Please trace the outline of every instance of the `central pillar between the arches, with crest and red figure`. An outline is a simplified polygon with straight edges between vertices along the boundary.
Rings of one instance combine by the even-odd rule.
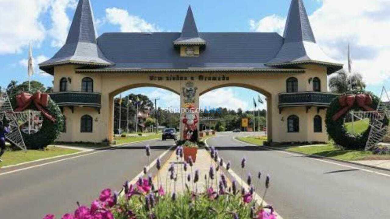
[[[199,92],[189,81],[180,92],[180,140],[197,141],[199,136]]]

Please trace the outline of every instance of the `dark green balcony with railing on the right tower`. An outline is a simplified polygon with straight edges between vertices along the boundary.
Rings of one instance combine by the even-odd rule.
[[[291,106],[328,107],[337,94],[328,92],[296,92],[279,94],[279,108]]]

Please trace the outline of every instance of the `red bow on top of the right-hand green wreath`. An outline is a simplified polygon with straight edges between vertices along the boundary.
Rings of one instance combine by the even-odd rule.
[[[333,115],[333,121],[338,120],[342,115],[347,113],[352,108],[353,104],[356,104],[363,108],[365,111],[374,111],[370,106],[372,104],[372,97],[369,94],[351,94],[339,97],[339,104],[342,107],[335,115]]]

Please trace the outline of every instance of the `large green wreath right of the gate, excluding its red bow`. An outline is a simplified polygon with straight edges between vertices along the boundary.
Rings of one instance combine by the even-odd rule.
[[[364,92],[364,91],[354,91],[354,92],[347,92],[344,95],[358,95],[358,94],[368,94],[371,95],[372,98],[372,104],[369,105],[372,109],[376,109],[378,106],[380,100],[379,98],[374,95],[371,92]],[[343,95],[342,95],[343,96]],[[326,111],[326,130],[329,134],[329,136],[335,141],[337,145],[342,146],[343,148],[347,149],[354,149],[354,150],[362,150],[365,148],[365,145],[367,143],[367,139],[371,130],[371,127],[369,126],[366,131],[357,134],[354,136],[353,134],[349,133],[347,129],[344,126],[344,118],[348,113],[344,113],[340,118],[337,120],[333,120],[333,115],[335,115],[342,107],[339,103],[339,98],[334,98],[333,101],[330,103],[330,106],[328,110]],[[350,110],[360,111],[362,108],[358,106],[358,104],[353,104],[352,108]],[[387,126],[389,124],[388,118],[385,117],[385,119],[382,121],[383,125]]]

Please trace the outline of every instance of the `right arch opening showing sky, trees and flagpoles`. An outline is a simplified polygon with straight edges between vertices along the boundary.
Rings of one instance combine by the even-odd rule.
[[[266,90],[252,85],[228,83],[200,92],[200,131],[251,132],[272,139],[271,98]],[[248,118],[248,127],[242,119]]]

